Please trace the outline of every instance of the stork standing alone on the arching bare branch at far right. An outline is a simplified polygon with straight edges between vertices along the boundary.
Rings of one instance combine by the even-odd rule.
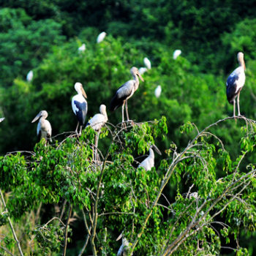
[[[239,96],[240,91],[244,87],[245,83],[245,63],[244,63],[244,53],[239,52],[237,55],[239,67],[237,67],[227,78],[227,100],[230,104],[233,104],[233,116],[236,116],[236,97],[237,97],[237,108],[238,116],[240,114],[239,107]]]

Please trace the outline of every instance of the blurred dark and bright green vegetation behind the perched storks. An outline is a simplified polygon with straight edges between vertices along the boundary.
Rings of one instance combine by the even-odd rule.
[[[88,118],[101,104],[108,110],[116,89],[131,78],[129,69],[143,67],[144,57],[152,69],[129,100],[129,116],[136,121],[167,117],[162,151],[172,141],[181,148],[187,144],[181,124],[191,121],[203,129],[233,114],[225,81],[238,66],[238,51],[246,62],[241,114],[256,119],[255,1],[10,0],[0,6],[1,155],[34,148],[31,120],[40,110],[48,111],[53,135],[75,130],[70,103],[75,82],[86,90]],[[97,44],[101,31],[107,36]],[[78,52],[83,43],[86,50]],[[182,53],[174,60],[176,49]],[[31,82],[26,81],[29,70]],[[158,85],[162,94],[156,98]],[[117,124],[121,109],[108,117]],[[241,127],[234,121],[225,126],[214,132],[235,157]],[[255,161],[252,156],[250,162]]]

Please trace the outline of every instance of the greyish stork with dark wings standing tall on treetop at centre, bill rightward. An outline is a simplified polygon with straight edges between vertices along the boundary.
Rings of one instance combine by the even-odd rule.
[[[138,71],[137,67],[132,67],[130,69],[130,72],[133,76],[133,80],[127,81],[127,83],[124,83],[121,87],[118,88],[116,91],[115,96],[110,102],[110,111],[114,111],[117,108],[119,108],[122,105],[122,122],[124,123],[124,104],[127,112],[127,121],[129,121],[129,115],[128,115],[128,106],[127,106],[127,100],[132,97],[132,95],[137,91],[140,80],[143,80],[142,76],[140,75],[140,72]]]

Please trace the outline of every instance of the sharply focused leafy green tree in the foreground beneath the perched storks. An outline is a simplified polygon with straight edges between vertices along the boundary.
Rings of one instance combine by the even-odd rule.
[[[185,124],[181,132],[191,136],[187,146],[170,145],[165,159],[150,171],[138,168],[135,159],[167,132],[164,117],[126,129],[108,124],[100,135],[97,162],[91,128],[80,138],[69,135],[47,146],[42,140],[26,158],[23,153],[1,157],[1,191],[12,191],[6,207],[1,205],[1,225],[19,222],[42,203],[61,211],[49,211],[45,224],[26,225],[29,242],[20,242],[21,251],[29,253],[26,244],[33,241],[35,254],[66,255],[70,221],[80,216],[85,228],[79,255],[116,255],[120,233],[129,241],[128,255],[219,255],[225,246],[246,255],[247,249],[238,242],[233,247],[230,239],[239,241],[242,230],[255,230],[256,170],[241,163],[254,154],[256,127],[255,121],[238,119],[245,123],[241,153],[231,160],[225,142],[211,133],[227,120],[235,121],[221,119],[201,132]],[[108,148],[102,148],[105,138]],[[165,192],[168,186],[174,197]],[[17,255],[14,238],[3,234],[0,252]]]

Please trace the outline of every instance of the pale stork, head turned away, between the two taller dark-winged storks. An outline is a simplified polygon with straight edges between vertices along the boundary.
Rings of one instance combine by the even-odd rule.
[[[94,129],[95,132],[97,132],[97,135],[95,137],[95,149],[94,149],[94,159],[98,159],[97,157],[97,147],[98,147],[98,140],[99,140],[99,133],[104,124],[108,121],[108,115],[105,105],[99,106],[99,113],[94,115],[89,122],[86,124],[86,127],[90,126],[92,129]]]

